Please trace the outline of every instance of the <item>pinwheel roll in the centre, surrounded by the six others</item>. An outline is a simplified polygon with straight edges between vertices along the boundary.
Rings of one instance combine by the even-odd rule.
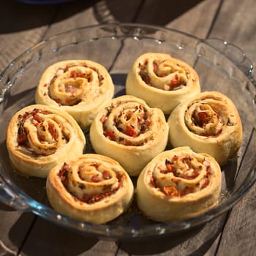
[[[168,127],[162,110],[124,95],[99,111],[91,124],[90,140],[98,154],[116,159],[129,175],[138,176],[154,156],[165,150]]]

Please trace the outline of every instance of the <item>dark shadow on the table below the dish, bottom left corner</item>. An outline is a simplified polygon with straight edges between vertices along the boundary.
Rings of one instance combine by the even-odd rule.
[[[53,225],[34,214],[22,214],[9,233],[22,255],[80,255],[99,241]],[[97,255],[97,253],[95,253]]]

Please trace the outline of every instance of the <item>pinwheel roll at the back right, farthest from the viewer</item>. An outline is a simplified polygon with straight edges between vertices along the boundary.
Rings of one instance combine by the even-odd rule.
[[[182,100],[200,93],[200,83],[195,69],[184,61],[165,53],[145,53],[129,70],[126,91],[170,114]]]

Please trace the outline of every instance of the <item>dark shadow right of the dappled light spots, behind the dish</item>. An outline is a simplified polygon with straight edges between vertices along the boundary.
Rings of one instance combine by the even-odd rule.
[[[178,16],[187,12],[202,0],[173,1],[98,1],[94,5],[94,15],[99,23],[150,23],[165,26]]]

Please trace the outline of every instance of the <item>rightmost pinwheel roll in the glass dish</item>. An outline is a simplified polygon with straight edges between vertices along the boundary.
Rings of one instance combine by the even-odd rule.
[[[205,91],[173,110],[167,121],[170,143],[206,152],[220,165],[241,146],[241,119],[233,102],[218,91]]]

